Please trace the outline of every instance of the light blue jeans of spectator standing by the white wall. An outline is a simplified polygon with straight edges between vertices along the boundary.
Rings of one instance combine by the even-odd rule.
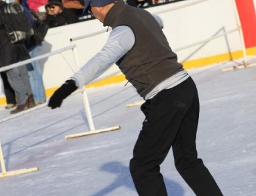
[[[38,44],[30,52],[30,56],[31,57],[39,56],[40,50],[41,50],[41,44]],[[44,101],[46,99],[45,86],[43,85],[43,74],[41,71],[39,61],[33,61],[32,67],[33,67],[33,70],[28,71],[28,75],[30,76],[30,85],[33,92],[33,99],[35,101]]]

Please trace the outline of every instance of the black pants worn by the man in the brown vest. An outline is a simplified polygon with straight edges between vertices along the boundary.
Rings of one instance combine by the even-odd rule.
[[[146,119],[135,144],[130,171],[140,196],[165,196],[160,165],[173,148],[175,167],[196,195],[223,195],[196,151],[199,99],[188,78],[141,106]]]

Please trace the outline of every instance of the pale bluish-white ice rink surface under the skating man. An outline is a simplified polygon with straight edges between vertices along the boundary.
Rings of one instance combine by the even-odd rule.
[[[198,156],[224,195],[256,195],[256,67],[222,72],[239,61],[188,70],[198,86],[200,122]],[[256,62],[256,57],[249,57]],[[144,116],[142,99],[126,82],[87,91],[95,129],[117,131],[76,139],[66,135],[89,131],[81,93],[61,108],[39,108],[0,123],[7,171],[38,167],[39,171],[0,178],[3,196],[135,196],[129,160]],[[0,108],[0,119],[11,116]],[[191,196],[169,155],[161,165],[167,191]],[[160,195],[161,196],[161,195]]]

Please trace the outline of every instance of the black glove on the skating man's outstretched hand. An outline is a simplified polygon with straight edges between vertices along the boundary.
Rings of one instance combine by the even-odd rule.
[[[77,90],[75,86],[75,80],[67,80],[58,90],[53,93],[53,96],[50,98],[48,106],[52,109],[60,107],[63,99],[68,97],[71,93]]]

